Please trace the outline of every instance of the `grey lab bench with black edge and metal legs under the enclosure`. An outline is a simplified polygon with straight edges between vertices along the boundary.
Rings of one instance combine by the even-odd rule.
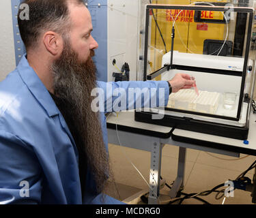
[[[124,200],[137,204],[140,197],[149,191],[149,204],[159,204],[160,188],[165,185],[160,180],[162,148],[179,146],[177,177],[169,196],[175,198],[183,187],[186,149],[196,149],[210,153],[240,157],[240,153],[256,156],[256,114],[251,112],[247,140],[237,140],[210,134],[201,134],[174,127],[141,123],[134,120],[134,110],[106,115],[109,143],[149,151],[151,153],[149,189]],[[121,140],[120,140],[121,139]],[[121,142],[120,142],[121,141]]]

